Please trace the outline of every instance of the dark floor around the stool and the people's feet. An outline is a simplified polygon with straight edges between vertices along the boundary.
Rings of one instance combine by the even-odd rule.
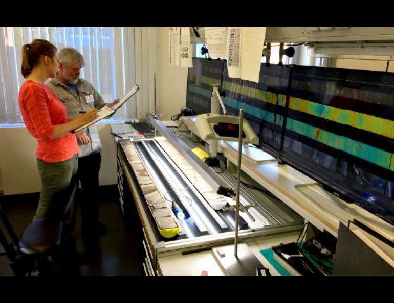
[[[101,188],[100,221],[106,224],[104,237],[82,237],[78,211],[76,230],[70,247],[84,255],[85,265],[76,267],[66,275],[143,275],[143,246],[141,231],[136,227],[126,231],[118,206],[116,186]],[[19,236],[31,222],[38,203],[38,195],[20,195],[3,198],[3,208]],[[6,256],[0,256],[0,275],[13,275]]]

